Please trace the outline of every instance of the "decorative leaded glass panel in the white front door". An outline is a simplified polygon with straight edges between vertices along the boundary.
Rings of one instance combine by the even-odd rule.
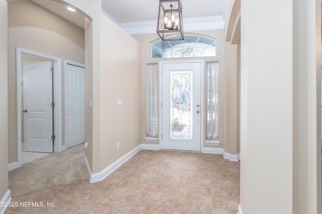
[[[171,71],[170,83],[170,139],[192,140],[192,71]]]

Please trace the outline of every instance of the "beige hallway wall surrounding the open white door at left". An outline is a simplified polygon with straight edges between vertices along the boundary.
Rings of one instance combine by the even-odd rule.
[[[85,31],[29,0],[8,3],[8,23],[9,163],[12,163],[17,161],[15,48],[20,47],[61,58],[61,95],[64,106],[64,60],[85,64]],[[62,117],[64,118],[64,108]],[[64,123],[62,134],[64,145]]]

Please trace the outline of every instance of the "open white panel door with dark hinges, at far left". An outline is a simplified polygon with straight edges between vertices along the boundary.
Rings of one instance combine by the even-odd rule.
[[[24,65],[25,151],[53,152],[51,62]]]

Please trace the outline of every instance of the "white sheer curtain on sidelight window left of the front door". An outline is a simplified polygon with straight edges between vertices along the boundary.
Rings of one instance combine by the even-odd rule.
[[[157,137],[157,63],[146,64],[146,136]]]

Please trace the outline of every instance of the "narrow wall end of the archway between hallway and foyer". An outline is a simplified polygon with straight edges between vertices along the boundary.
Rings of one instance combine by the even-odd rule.
[[[59,0],[55,0],[59,1]],[[85,141],[89,143],[86,157],[92,172],[100,172],[100,73],[101,73],[101,11],[102,1],[64,0],[83,13],[85,27]],[[90,108],[90,100],[93,107]]]

